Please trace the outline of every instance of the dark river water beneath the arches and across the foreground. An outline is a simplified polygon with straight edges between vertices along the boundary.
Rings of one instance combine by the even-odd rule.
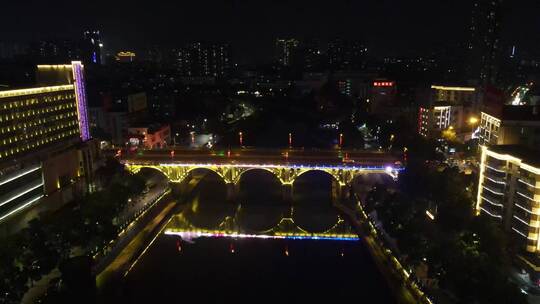
[[[284,215],[310,232],[335,224],[329,176],[306,174],[293,186],[291,208],[279,181],[253,172],[240,181],[238,201],[226,203],[225,185],[208,174],[184,214],[195,226],[212,229],[226,216],[236,216],[249,231],[272,228]],[[125,303],[394,303],[361,241],[199,238],[189,243],[161,235],[125,278],[122,294]]]

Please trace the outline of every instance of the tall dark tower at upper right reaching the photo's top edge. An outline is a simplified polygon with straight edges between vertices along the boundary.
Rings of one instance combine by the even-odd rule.
[[[470,26],[469,77],[481,84],[497,80],[502,0],[474,0]]]

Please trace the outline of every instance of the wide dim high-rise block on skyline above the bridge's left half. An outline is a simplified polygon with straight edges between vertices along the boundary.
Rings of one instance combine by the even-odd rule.
[[[228,44],[195,42],[176,53],[176,64],[184,77],[225,78],[230,71]]]

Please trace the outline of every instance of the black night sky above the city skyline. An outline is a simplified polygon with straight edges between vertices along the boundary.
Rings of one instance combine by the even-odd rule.
[[[378,55],[424,55],[464,42],[471,0],[178,0],[3,1],[0,40],[73,37],[103,32],[106,51],[228,41],[235,59],[272,53],[275,37],[366,41]],[[507,0],[504,39],[538,55],[540,3]],[[247,58],[247,59],[246,59]]]

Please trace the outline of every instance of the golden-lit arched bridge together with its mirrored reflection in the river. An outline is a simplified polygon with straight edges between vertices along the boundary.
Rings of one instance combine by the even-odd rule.
[[[195,170],[205,169],[217,174],[225,183],[227,201],[237,201],[242,175],[251,170],[270,172],[281,183],[283,200],[293,202],[295,180],[305,173],[318,171],[329,175],[332,183],[332,202],[346,199],[353,180],[359,176],[385,175],[396,179],[402,170],[399,156],[377,152],[319,151],[319,150],[142,150],[138,152],[118,151],[126,168],[133,173],[141,169],[158,170],[171,183],[179,184],[185,191]],[[294,186],[296,187],[296,186]],[[185,189],[187,188],[187,189]],[[190,191],[187,190],[189,193]],[[253,238],[315,238],[356,239],[349,226],[338,217],[337,221],[314,233],[295,223],[295,204],[287,205],[281,220],[274,227],[261,230],[246,230],[238,222],[238,213],[229,213],[213,229],[203,229],[189,222],[184,215],[174,216],[166,230],[167,234],[182,237],[253,237]],[[244,227],[245,228],[245,227]],[[251,231],[256,234],[251,234]]]

